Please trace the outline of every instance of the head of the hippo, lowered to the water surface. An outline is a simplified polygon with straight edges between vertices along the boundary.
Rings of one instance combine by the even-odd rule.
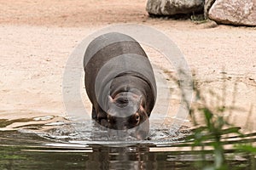
[[[108,128],[111,129],[131,129],[148,119],[141,95],[121,93],[114,98],[108,96],[108,107]]]

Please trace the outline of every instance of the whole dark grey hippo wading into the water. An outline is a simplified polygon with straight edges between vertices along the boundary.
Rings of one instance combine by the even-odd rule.
[[[129,129],[148,119],[156,84],[147,54],[135,39],[117,32],[96,37],[84,54],[84,71],[96,122]]]

